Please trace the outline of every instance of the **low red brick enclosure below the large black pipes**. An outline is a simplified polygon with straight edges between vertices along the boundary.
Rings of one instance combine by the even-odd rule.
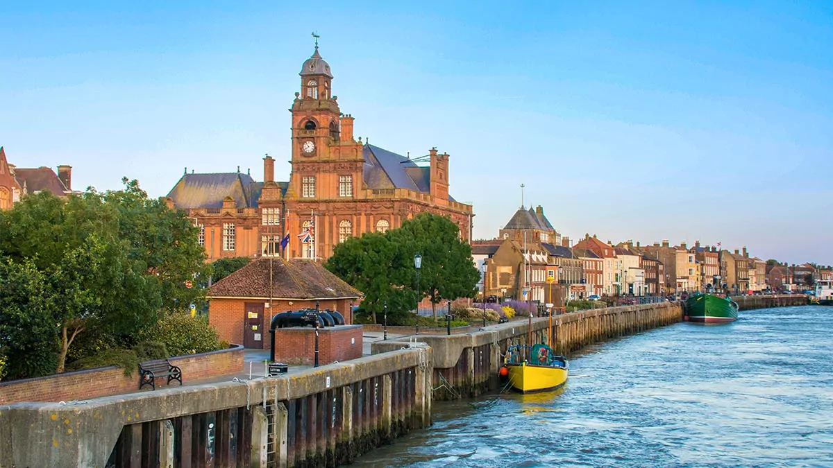
[[[361,325],[318,329],[318,364],[362,357]],[[315,328],[295,326],[275,331],[275,361],[285,364],[315,363]]]

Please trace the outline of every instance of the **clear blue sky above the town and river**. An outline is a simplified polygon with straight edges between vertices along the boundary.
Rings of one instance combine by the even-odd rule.
[[[525,183],[567,236],[833,264],[833,2],[9,3],[0,145],[75,188],[287,180],[316,30],[357,136],[449,152],[476,237]]]

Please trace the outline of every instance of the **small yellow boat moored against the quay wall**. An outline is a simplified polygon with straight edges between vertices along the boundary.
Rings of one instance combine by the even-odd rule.
[[[532,329],[530,316],[529,329]],[[549,342],[552,342],[552,316],[550,316]],[[531,332],[530,340],[531,341]],[[509,346],[506,360],[500,370],[502,379],[521,393],[555,390],[567,381],[566,357],[557,356],[549,345]]]

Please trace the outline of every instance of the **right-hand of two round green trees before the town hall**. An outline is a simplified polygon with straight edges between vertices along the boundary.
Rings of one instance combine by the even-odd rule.
[[[402,227],[389,232],[398,246],[397,262],[414,271],[413,257],[422,256],[420,291],[417,297],[431,300],[431,312],[436,321],[436,305],[457,297],[474,297],[480,272],[471,261],[471,246],[461,239],[460,230],[451,219],[421,213]]]

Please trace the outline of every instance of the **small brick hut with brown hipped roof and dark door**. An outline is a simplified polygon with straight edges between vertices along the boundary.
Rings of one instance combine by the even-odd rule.
[[[317,261],[261,257],[217,281],[208,290],[208,321],[221,340],[269,349],[269,324],[285,311],[338,311],[351,323],[350,305],[362,293]]]

